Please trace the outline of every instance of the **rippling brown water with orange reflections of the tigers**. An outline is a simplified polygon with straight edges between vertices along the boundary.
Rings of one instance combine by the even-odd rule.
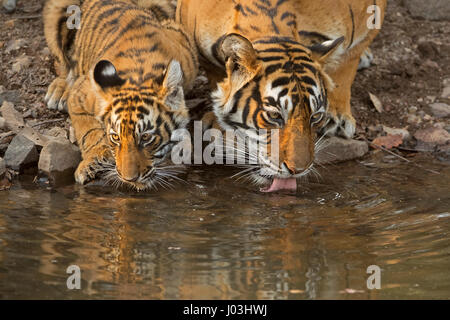
[[[220,167],[147,194],[25,179],[0,192],[0,298],[448,299],[450,166],[414,161],[440,174],[378,154],[320,169],[296,195]],[[70,265],[81,290],[66,287]]]

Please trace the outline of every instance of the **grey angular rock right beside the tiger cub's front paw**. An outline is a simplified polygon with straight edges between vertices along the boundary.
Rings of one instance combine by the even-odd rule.
[[[81,161],[80,150],[65,141],[51,141],[41,151],[39,171],[54,183],[73,181],[73,174]]]

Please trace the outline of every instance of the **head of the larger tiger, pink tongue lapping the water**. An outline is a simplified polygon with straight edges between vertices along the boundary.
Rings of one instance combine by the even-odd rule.
[[[265,153],[240,151],[257,158],[251,172],[255,182],[268,186],[263,191],[296,189],[296,179],[314,170],[316,133],[326,124],[327,88],[333,85],[322,65],[343,40],[306,48],[292,38],[267,37],[252,44],[229,34],[217,45],[214,54],[225,63],[227,76],[213,93],[214,112],[222,128],[267,145]],[[260,129],[267,134],[256,134]],[[277,141],[270,138],[274,129]],[[277,163],[270,157],[274,143]]]

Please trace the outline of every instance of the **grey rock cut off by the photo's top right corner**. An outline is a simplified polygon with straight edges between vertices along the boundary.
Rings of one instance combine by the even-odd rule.
[[[448,0],[405,0],[404,4],[414,18],[450,20]]]

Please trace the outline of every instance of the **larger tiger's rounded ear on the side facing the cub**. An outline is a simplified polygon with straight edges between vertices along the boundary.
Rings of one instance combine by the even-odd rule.
[[[230,33],[223,38],[218,53],[225,63],[230,89],[233,92],[252,80],[261,69],[253,45],[237,33]]]

